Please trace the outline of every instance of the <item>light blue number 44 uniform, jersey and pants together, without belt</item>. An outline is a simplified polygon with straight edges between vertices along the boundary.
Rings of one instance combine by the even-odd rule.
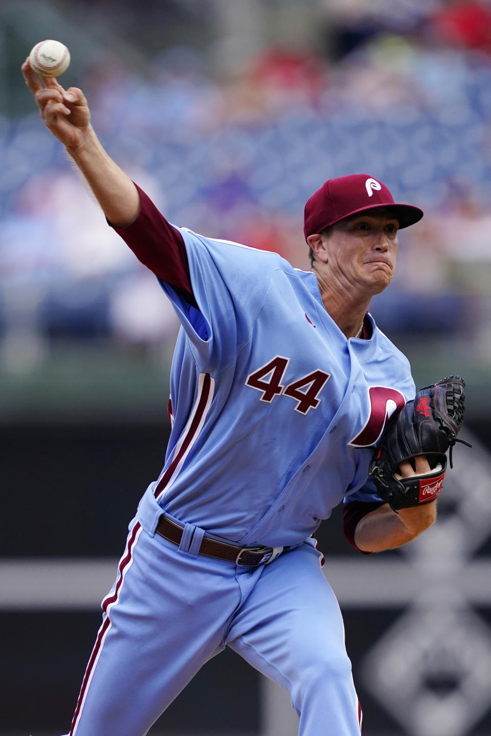
[[[71,736],[144,736],[225,646],[289,691],[299,736],[360,736],[341,612],[310,535],[343,497],[376,498],[371,448],[414,396],[408,361],[371,317],[370,340],[347,340],[313,273],[180,232],[199,310],[162,282],[182,323],[166,464],[103,601]],[[179,545],[157,533],[163,511],[183,526]],[[200,552],[205,532],[285,550],[244,567]]]

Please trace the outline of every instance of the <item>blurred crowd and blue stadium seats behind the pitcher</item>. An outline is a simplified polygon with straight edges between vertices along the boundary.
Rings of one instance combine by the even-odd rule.
[[[99,54],[80,80],[93,125],[171,222],[305,269],[313,191],[356,172],[384,181],[425,218],[400,235],[383,326],[468,338],[491,291],[491,8],[428,3],[381,29],[357,5],[345,3],[335,42],[331,29],[331,54],[271,46],[228,74],[194,46],[164,49],[146,76]],[[174,334],[154,278],[34,109],[0,119],[0,151],[0,335]]]

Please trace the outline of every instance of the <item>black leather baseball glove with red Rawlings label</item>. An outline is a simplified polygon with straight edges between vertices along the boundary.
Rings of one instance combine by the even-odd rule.
[[[381,437],[375,458],[370,463],[372,475],[380,498],[391,509],[420,506],[437,498],[442,490],[447,470],[445,452],[462,442],[456,439],[464,418],[465,381],[459,375],[442,378],[432,386],[417,392],[414,400],[390,418]],[[425,455],[431,467],[424,475],[395,478],[400,462],[411,461],[416,455]]]

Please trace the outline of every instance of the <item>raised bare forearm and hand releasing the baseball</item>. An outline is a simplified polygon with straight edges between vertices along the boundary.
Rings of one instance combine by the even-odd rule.
[[[102,148],[82,91],[76,87],[65,90],[52,77],[43,77],[43,85],[32,71],[29,58],[22,65],[22,74],[46,127],[82,171],[107,219],[119,227],[135,222],[140,212],[138,190]]]

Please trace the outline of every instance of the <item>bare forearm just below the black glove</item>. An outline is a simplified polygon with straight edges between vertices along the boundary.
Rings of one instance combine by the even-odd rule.
[[[396,514],[388,504],[370,512],[358,522],[355,543],[364,552],[383,552],[411,542],[437,518],[437,502],[425,503]]]

